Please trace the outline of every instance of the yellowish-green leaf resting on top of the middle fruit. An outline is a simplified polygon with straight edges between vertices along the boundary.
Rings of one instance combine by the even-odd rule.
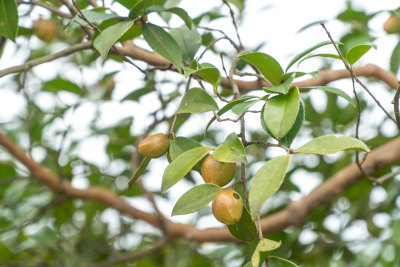
[[[246,151],[236,133],[228,135],[225,141],[215,149],[213,157],[221,162],[247,162]]]

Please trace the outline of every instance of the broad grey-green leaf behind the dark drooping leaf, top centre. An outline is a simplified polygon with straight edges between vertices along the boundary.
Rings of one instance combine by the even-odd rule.
[[[183,61],[191,62],[201,46],[199,32],[195,28],[180,27],[171,29],[169,33],[181,47]]]

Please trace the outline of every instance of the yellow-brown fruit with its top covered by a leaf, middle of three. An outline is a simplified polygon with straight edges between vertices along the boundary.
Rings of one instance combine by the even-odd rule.
[[[235,173],[235,163],[220,162],[212,155],[208,156],[201,165],[201,176],[206,183],[225,186],[232,181]]]

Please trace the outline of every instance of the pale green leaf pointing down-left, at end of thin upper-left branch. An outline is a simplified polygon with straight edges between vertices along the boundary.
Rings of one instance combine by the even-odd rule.
[[[93,41],[94,48],[99,51],[101,56],[105,59],[111,46],[132,27],[133,21],[124,21],[107,27],[102,31]]]

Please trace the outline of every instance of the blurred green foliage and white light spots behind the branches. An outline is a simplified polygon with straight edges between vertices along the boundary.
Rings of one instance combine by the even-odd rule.
[[[85,34],[82,30],[76,28],[68,31],[65,29],[68,27],[67,19],[49,13],[59,28],[56,39],[51,43],[38,41],[29,22],[32,22],[32,14],[40,7],[23,5],[21,2],[18,1],[21,27],[17,42],[11,44],[7,41],[9,46],[14,46],[14,50],[10,48],[13,53],[18,54],[18,51],[23,50],[25,59],[31,60],[83,40]],[[58,0],[41,2],[61,7]],[[114,2],[129,9],[135,1]],[[172,5],[180,1],[156,2],[159,5]],[[240,12],[245,10],[246,1],[228,2],[237,15],[245,20],[246,17]],[[77,0],[76,4],[81,9],[90,8],[85,0]],[[273,12],[273,7],[270,7],[269,12]],[[389,14],[388,10],[369,14],[347,2],[346,9],[334,19],[345,26],[340,36],[340,41],[344,43],[342,52],[355,44],[374,42],[382,36],[382,33],[376,34],[369,28],[371,19],[382,12]],[[222,1],[217,8],[193,18],[196,25],[203,26],[214,20],[230,23],[229,13]],[[168,18],[164,18],[164,22],[168,21]],[[99,27],[105,27],[107,23],[116,21],[103,22]],[[308,27],[318,25],[310,24],[303,30]],[[202,45],[200,51],[217,39],[215,31],[199,32]],[[396,38],[398,42],[399,35]],[[137,42],[143,43],[140,37]],[[390,62],[386,66],[394,73],[398,73],[399,68],[399,44],[393,47]],[[254,50],[265,47],[265,44],[251,45]],[[212,46],[208,53],[214,53],[217,60],[222,53],[229,60],[232,53],[223,48]],[[0,120],[1,130],[36,161],[59,177],[71,181],[73,185],[81,188],[97,185],[116,192],[127,201],[145,202],[143,192],[138,187],[127,188],[127,181],[138,160],[135,143],[145,129],[148,132],[168,130],[171,114],[184,93],[185,80],[176,74],[149,71],[147,81],[131,84],[128,92],[121,96],[114,91],[121,80],[118,77],[121,68],[114,67],[122,65],[117,56],[109,56],[103,61],[97,51],[87,50],[60,59],[57,64],[59,67],[49,70],[49,75],[43,73],[48,67],[39,66],[0,81],[0,90],[12,90],[20,99],[18,112]],[[102,66],[106,64],[114,68],[104,72]],[[320,60],[321,69],[329,69],[331,65],[329,60]],[[67,73],[66,69],[70,72]],[[131,68],[130,71],[135,70]],[[381,82],[367,82],[374,86],[379,83],[378,90],[384,91],[382,95],[394,94]],[[229,97],[231,94],[231,90],[223,89],[222,95]],[[328,133],[353,135],[356,110],[343,104],[335,95],[321,94],[317,97],[326,100],[323,108],[312,100],[311,94],[302,95],[306,121],[300,140]],[[367,118],[377,112],[376,104],[367,99],[366,95],[360,94],[359,97],[362,112],[367,114]],[[115,108],[118,105],[122,108]],[[151,108],[143,107],[146,105]],[[80,117],[75,113],[88,116]],[[110,117],[113,123],[103,122],[104,118],[110,121]],[[196,125],[198,120],[200,117],[196,115],[179,117],[176,127],[178,135],[217,146],[224,137],[224,124],[220,128],[211,127],[206,136],[203,136],[204,129],[199,127],[180,134],[181,129]],[[361,126],[362,138],[370,147],[375,148],[398,135],[397,132],[388,133],[385,130],[387,120],[383,116],[373,123],[366,119],[366,126]],[[137,125],[144,126],[140,128]],[[250,140],[267,138],[261,127],[249,127],[248,135]],[[98,154],[99,158],[93,160],[93,157],[87,157],[85,150],[90,145],[98,146],[94,151],[89,150],[88,153],[92,155],[103,151]],[[254,174],[254,166],[272,156],[265,147],[255,145],[247,147],[247,153],[251,155],[247,165],[249,176]],[[263,207],[263,216],[281,210],[290,200],[304,196],[304,186],[300,184],[310,181],[310,188],[315,188],[353,161],[352,152],[340,153],[339,156],[295,157],[280,191]],[[160,162],[160,166],[166,166],[166,159]],[[381,170],[377,176],[394,170],[396,165]],[[154,175],[159,174],[150,169],[144,178],[151,179]],[[299,176],[302,179],[309,176],[310,180],[299,181],[296,179]],[[198,181],[194,173],[189,174],[186,180],[188,186]],[[173,204],[171,194],[161,195],[156,188],[159,188],[159,184],[150,190],[159,201]],[[272,254],[288,258],[300,266],[399,266],[398,192],[399,178],[376,187],[367,179],[362,180],[331,203],[316,209],[306,223],[268,236],[269,239],[282,241],[282,246]],[[33,179],[26,168],[3,149],[0,149],[0,197],[1,266],[96,266],[97,262],[112,259],[119,253],[151,247],[162,235],[158,229],[142,221],[119,216],[105,205],[70,199],[52,192]],[[200,225],[207,226],[210,214],[211,209],[207,207],[187,222],[201,222]],[[115,266],[241,266],[249,260],[255,245],[198,244],[183,239],[173,240],[151,255]]]

